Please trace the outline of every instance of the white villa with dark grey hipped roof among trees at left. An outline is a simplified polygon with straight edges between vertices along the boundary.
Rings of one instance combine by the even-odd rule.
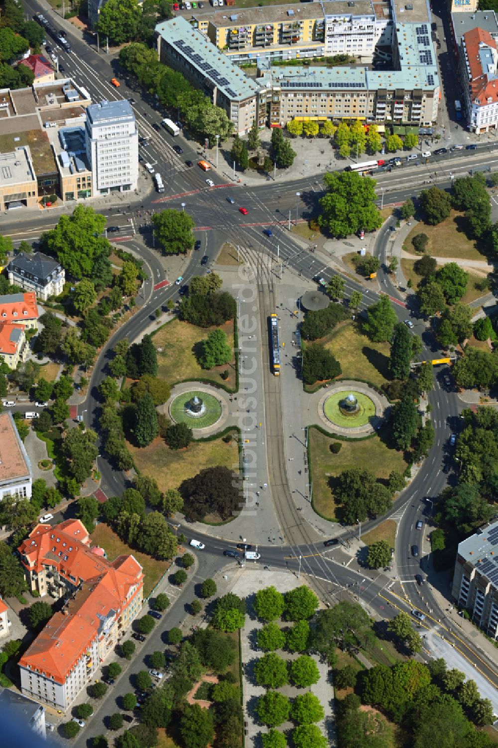
[[[26,291],[34,291],[42,301],[60,295],[66,278],[61,263],[43,252],[19,252],[7,265],[7,274],[11,286],[15,284]]]

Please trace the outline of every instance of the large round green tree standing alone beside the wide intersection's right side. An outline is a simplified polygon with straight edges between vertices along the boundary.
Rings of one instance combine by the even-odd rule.
[[[336,136],[341,127],[342,124]],[[324,182],[327,192],[319,201],[319,224],[332,236],[343,239],[361,229],[375,231],[381,226],[382,218],[375,205],[375,180],[354,171],[334,171],[325,174]]]

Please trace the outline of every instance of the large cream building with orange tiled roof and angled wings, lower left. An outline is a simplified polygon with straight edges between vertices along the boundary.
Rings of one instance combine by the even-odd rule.
[[[144,574],[94,553],[79,520],[37,525],[18,551],[31,590],[67,597],[19,660],[22,693],[65,711],[140,612]]]

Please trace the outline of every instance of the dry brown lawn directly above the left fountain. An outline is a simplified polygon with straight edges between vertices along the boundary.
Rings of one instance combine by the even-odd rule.
[[[200,328],[191,325],[189,322],[182,322],[179,319],[173,319],[167,322],[157,332],[153,333],[154,346],[158,350],[159,377],[165,379],[171,387],[179,381],[189,381],[202,379],[203,381],[212,381],[213,384],[224,384],[230,389],[235,389],[236,384],[236,367],[235,358],[232,357],[230,364],[214,369],[201,369],[197,362],[194,351],[200,347],[201,340],[206,340],[212,328]],[[233,349],[233,320],[221,325],[221,329],[227,334],[227,342]],[[229,377],[224,381],[221,379],[221,373],[224,370],[230,372]]]

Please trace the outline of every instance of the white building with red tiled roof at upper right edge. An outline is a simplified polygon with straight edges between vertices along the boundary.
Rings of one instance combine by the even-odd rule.
[[[489,31],[473,28],[462,35],[460,67],[468,129],[497,129],[498,50]]]

